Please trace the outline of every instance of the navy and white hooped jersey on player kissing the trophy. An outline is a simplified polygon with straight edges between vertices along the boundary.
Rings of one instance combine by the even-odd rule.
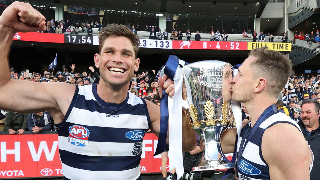
[[[281,112],[278,112],[270,116],[268,119],[262,122],[253,134],[252,138],[249,140],[245,149],[243,150],[242,156],[239,160],[239,164],[237,164],[238,180],[270,180],[269,166],[262,156],[261,141],[262,135],[265,132],[265,130],[277,123],[292,124],[293,126],[297,127],[301,132],[299,125],[295,121],[293,121],[289,116]],[[237,145],[237,153],[239,152],[239,147],[242,138],[244,138],[245,132],[247,128],[249,128],[250,126],[251,122],[246,124],[241,130],[240,138]],[[310,152],[312,154],[312,163],[309,167],[309,172],[311,172],[313,165],[313,153],[311,149]]]

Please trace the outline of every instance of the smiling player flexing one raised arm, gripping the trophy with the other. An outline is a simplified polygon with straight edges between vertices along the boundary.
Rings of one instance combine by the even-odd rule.
[[[142,139],[149,128],[159,134],[160,108],[128,92],[139,69],[138,36],[123,25],[110,24],[100,30],[99,53],[94,56],[99,84],[75,87],[10,79],[8,53],[14,34],[45,29],[44,16],[24,2],[13,2],[0,16],[0,109],[51,111],[64,179],[141,179]],[[164,88],[169,96],[174,95],[170,79],[164,76],[159,81],[160,92]],[[26,89],[34,93],[26,94]],[[196,138],[188,123],[183,123],[183,134],[189,137],[183,149],[193,150]]]

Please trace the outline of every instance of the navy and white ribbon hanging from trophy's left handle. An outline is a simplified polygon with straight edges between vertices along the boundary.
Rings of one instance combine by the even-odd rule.
[[[185,66],[187,63],[180,60],[177,56],[170,55],[164,68],[164,74],[174,82],[174,96],[168,96],[163,90],[161,98],[161,119],[160,133],[155,155],[164,151],[165,141],[167,138],[167,129],[169,122],[169,162],[170,170],[176,168],[177,178],[183,173],[182,159],[182,106],[185,101],[182,99],[183,81],[185,81],[187,94],[191,94],[188,84],[188,77],[191,69]],[[192,102],[191,96],[187,96],[188,101]],[[170,151],[171,150],[171,151]]]

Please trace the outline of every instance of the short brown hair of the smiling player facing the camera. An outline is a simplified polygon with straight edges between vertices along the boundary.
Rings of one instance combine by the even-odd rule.
[[[109,24],[108,26],[102,28],[99,32],[99,54],[101,54],[101,48],[103,46],[104,40],[109,36],[123,36],[130,39],[135,57],[137,57],[138,50],[140,49],[140,40],[136,34],[126,26],[120,24]]]

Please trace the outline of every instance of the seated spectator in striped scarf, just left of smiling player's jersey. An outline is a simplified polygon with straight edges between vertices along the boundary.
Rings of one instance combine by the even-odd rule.
[[[29,114],[28,130],[34,133],[38,133],[39,131],[50,131],[51,120],[52,118],[47,111]]]

